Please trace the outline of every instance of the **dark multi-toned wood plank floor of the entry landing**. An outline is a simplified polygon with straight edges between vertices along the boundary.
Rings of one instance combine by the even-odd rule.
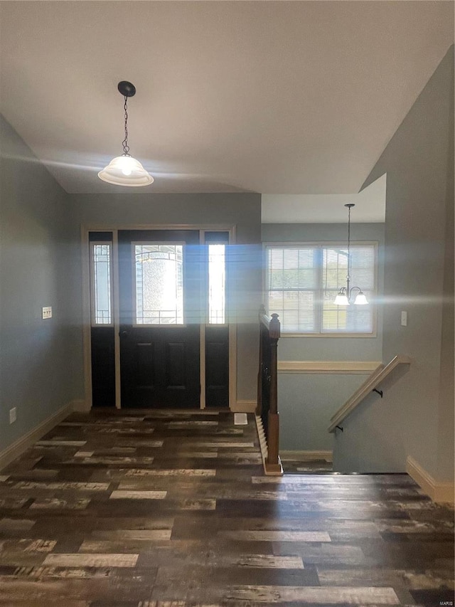
[[[73,414],[0,473],[1,606],[453,606],[453,557],[407,475],[264,477],[252,416]]]

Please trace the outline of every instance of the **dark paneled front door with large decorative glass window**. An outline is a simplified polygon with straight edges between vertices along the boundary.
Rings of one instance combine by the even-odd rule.
[[[119,231],[122,407],[199,407],[199,232]]]

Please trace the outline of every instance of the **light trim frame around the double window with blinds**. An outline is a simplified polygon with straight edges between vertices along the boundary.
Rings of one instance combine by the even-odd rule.
[[[311,247],[317,246],[319,248],[331,248],[331,247],[341,247],[347,246],[346,241],[266,241],[262,243],[262,292],[263,292],[263,302],[264,307],[267,310],[267,300],[268,300],[268,289],[267,289],[267,249],[271,247],[277,248],[293,248],[293,247]],[[373,330],[371,333],[343,333],[343,332],[334,332],[334,333],[322,333],[322,332],[287,332],[286,329],[282,327],[281,337],[300,337],[306,339],[309,337],[310,339],[321,339],[321,338],[335,338],[335,339],[370,339],[378,337],[378,305],[376,300],[378,298],[378,274],[379,274],[379,241],[350,241],[350,246],[373,246],[374,250],[374,275],[373,275],[373,290],[374,290],[374,300],[371,302],[372,307],[372,324]],[[322,266],[319,268],[319,278],[321,279]],[[322,285],[322,279],[320,280],[320,285]],[[322,292],[322,289],[318,289],[319,292]],[[319,327],[321,327],[321,307],[318,306],[318,310],[316,310],[316,320],[319,322]],[[268,310],[267,310],[268,312]]]

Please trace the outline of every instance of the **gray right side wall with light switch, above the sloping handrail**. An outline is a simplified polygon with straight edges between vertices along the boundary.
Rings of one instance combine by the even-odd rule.
[[[383,359],[407,354],[412,364],[343,424],[338,469],[398,472],[410,455],[453,480],[453,115],[452,46],[363,184],[387,173]]]

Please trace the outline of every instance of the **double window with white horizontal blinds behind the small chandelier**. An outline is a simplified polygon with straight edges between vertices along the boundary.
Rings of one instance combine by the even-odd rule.
[[[375,297],[376,246],[350,246],[350,286],[369,302]],[[277,312],[283,333],[373,334],[373,305],[333,303],[346,287],[348,248],[344,245],[267,245],[266,297],[269,314]]]

